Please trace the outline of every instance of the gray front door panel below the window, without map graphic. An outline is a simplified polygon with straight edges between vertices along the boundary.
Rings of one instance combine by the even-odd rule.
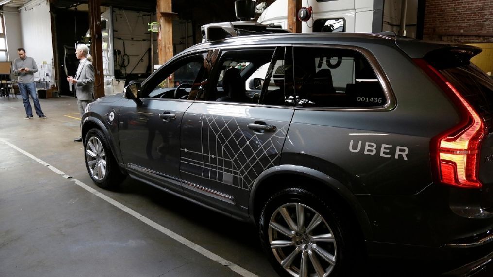
[[[180,127],[183,114],[191,104],[191,101],[143,98],[142,105],[134,101],[122,105],[118,124],[121,154],[128,170],[181,190]],[[174,118],[162,118],[162,114]]]

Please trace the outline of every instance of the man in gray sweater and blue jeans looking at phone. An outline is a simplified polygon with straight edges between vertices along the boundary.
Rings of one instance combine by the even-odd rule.
[[[33,58],[26,56],[24,48],[17,49],[19,58],[14,60],[14,74],[18,75],[19,90],[21,91],[24,108],[26,109],[26,118],[33,118],[33,109],[29,103],[29,95],[33,99],[36,114],[40,119],[46,119],[46,116],[41,111],[39,99],[37,98],[36,86],[34,83],[34,73],[37,72],[37,65]]]

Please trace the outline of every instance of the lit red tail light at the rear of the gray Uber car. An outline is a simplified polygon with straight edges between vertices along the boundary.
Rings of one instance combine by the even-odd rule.
[[[422,59],[414,60],[433,81],[456,103],[463,115],[454,128],[433,138],[432,160],[441,183],[459,187],[480,188],[479,161],[485,125],[478,113],[457,89],[435,68]]]

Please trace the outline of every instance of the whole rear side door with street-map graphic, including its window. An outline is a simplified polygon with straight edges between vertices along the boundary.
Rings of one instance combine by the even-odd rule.
[[[291,77],[284,78],[290,61],[284,52],[284,47],[222,52],[207,93],[183,117],[180,172],[185,193],[221,210],[246,212],[255,179],[280,162],[294,111],[288,96]],[[259,76],[261,95],[248,87]]]

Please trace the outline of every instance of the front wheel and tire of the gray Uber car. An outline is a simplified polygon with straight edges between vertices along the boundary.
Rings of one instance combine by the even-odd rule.
[[[84,140],[84,157],[87,172],[99,187],[112,189],[125,180],[111,153],[105,134],[97,128],[89,130]]]

